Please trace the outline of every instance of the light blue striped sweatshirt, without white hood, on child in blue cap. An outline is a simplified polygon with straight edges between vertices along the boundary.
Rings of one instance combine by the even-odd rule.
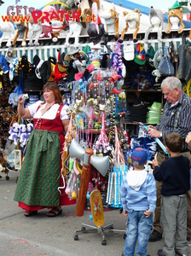
[[[124,211],[146,211],[154,212],[156,207],[156,182],[152,174],[148,173],[145,182],[139,191],[131,189],[127,176],[124,175],[121,183],[121,201]]]

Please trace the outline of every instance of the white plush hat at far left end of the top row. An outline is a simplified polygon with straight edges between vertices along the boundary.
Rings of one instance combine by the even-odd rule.
[[[2,46],[3,41],[7,41],[6,46],[10,47],[16,34],[14,25],[11,22],[2,22],[0,23],[0,31],[3,32],[3,35],[0,38],[0,47]]]

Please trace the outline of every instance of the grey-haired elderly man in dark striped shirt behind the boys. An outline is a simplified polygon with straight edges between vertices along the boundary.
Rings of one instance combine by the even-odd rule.
[[[182,91],[181,81],[175,77],[167,77],[161,84],[161,90],[166,100],[163,114],[159,125],[148,125],[150,137],[158,137],[164,143],[163,138],[170,132],[178,132],[183,138],[181,154],[191,161],[191,154],[185,143],[185,137],[191,128],[191,99]],[[168,155],[161,148],[158,148],[157,160],[159,165]],[[153,218],[153,233],[149,241],[159,241],[162,238],[162,228],[160,226],[160,199],[161,182],[156,182],[157,202]],[[187,193],[187,237],[191,239],[191,191]]]

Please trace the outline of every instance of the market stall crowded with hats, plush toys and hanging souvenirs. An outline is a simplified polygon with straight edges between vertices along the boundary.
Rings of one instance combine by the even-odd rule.
[[[83,17],[84,7],[78,4],[78,9],[72,1],[71,5],[47,3],[41,9],[24,9],[18,4],[7,7],[3,19],[11,17],[11,12],[13,16],[13,11],[14,15],[22,11],[26,21],[24,25],[15,19],[0,24],[3,32],[0,40],[0,164],[3,172],[8,173],[15,166],[20,170],[21,157],[32,132],[32,121],[20,119],[16,114],[18,96],[28,94],[26,104],[30,105],[43,99],[43,84],[54,82],[60,87],[71,119],[71,136],[67,137],[62,156],[67,195],[72,199],[78,196],[77,187],[84,172],[84,159],[78,154],[75,156],[75,152],[72,157],[69,154],[75,139],[84,151],[92,148],[100,162],[108,161],[103,161],[107,172],[102,171],[102,162],[101,166],[92,162],[84,193],[100,189],[104,205],[121,207],[120,183],[124,172],[131,167],[131,150],[140,146],[147,148],[148,160],[156,152],[156,143],[144,135],[138,122],[152,125],[159,122],[163,104],[159,84],[168,75],[180,75],[178,59],[183,55],[180,46],[190,43],[189,22],[181,20],[181,28],[176,24],[169,26],[165,20],[167,14],[135,4],[130,4],[128,9],[124,2],[122,7],[119,3],[107,3],[110,8],[107,13],[98,1],[92,1],[89,6],[90,12],[84,16],[86,22],[79,22],[83,21],[78,19],[80,15]],[[181,6],[173,8],[182,9]],[[69,18],[65,15],[66,9],[71,11]],[[93,15],[95,20],[86,20]],[[136,15],[133,24],[128,23],[132,15]],[[28,19],[29,16],[33,20]],[[143,16],[147,16],[146,25],[142,23]],[[152,18],[158,19],[155,24]],[[159,65],[164,56],[172,66],[169,73],[168,69],[165,73],[165,64]],[[188,94],[189,79],[182,78]],[[161,104],[159,113],[155,113],[158,119],[148,113],[148,108],[154,108],[156,103]],[[20,127],[24,126],[26,131],[21,131]],[[25,133],[25,140],[21,133]],[[20,164],[15,163],[15,159]],[[149,172],[149,166],[147,168]],[[76,193],[72,193],[74,187]],[[86,201],[86,207],[88,203]]]

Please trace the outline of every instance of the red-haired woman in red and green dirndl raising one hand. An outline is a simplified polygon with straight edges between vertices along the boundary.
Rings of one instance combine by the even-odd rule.
[[[26,217],[43,208],[50,209],[48,217],[56,217],[62,213],[61,206],[76,203],[65,194],[65,180],[61,178],[61,151],[69,119],[58,85],[45,84],[43,98],[44,102],[27,108],[22,96],[18,99],[20,117],[34,122],[14,194]]]

